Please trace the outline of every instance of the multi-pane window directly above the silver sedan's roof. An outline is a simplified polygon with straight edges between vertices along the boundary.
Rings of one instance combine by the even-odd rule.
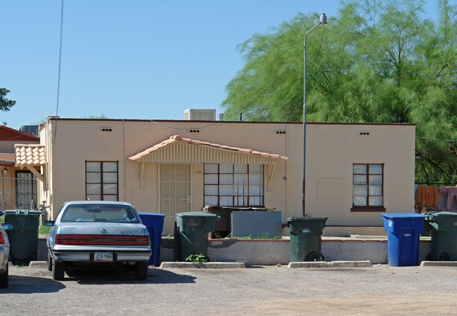
[[[117,201],[117,162],[86,162],[86,199]]]

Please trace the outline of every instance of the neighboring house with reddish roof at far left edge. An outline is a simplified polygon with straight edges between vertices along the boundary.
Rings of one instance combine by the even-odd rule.
[[[0,210],[37,209],[37,180],[33,171],[15,166],[16,143],[39,145],[39,138],[0,126]]]

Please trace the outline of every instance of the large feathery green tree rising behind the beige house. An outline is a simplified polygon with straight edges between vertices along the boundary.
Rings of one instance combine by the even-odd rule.
[[[416,182],[457,183],[457,6],[439,0],[342,3],[307,38],[307,121],[416,126]],[[224,119],[302,121],[304,34],[299,14],[238,47]]]

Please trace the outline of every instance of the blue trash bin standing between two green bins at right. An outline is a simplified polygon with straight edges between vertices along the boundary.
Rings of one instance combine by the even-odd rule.
[[[384,229],[389,232],[389,265],[417,265],[425,216],[419,213],[385,213],[382,218]]]

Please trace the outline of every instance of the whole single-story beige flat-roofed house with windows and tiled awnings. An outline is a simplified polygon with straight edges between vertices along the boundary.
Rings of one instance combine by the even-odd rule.
[[[63,202],[103,199],[164,213],[164,234],[176,213],[205,205],[276,209],[286,223],[302,216],[302,126],[50,117],[42,147],[16,147],[16,164],[41,167],[40,201],[52,216]],[[385,211],[413,211],[415,129],[307,124],[306,213],[345,235],[383,231]]]

